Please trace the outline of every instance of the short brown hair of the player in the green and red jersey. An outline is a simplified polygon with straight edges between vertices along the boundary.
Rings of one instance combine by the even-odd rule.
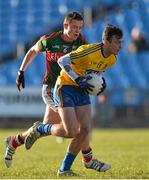
[[[64,23],[71,23],[72,20],[83,21],[83,17],[78,12],[70,12],[64,18]]]

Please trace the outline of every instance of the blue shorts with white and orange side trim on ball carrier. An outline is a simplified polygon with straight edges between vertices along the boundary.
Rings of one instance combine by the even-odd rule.
[[[53,92],[56,107],[75,107],[91,104],[90,97],[78,86],[56,84]]]

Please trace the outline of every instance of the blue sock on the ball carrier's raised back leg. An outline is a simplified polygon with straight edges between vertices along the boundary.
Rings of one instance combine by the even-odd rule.
[[[40,124],[37,127],[37,131],[41,135],[50,135],[51,134],[51,127],[52,127],[52,124]]]

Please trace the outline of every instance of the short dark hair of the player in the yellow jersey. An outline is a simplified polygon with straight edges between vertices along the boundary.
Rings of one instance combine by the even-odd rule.
[[[104,28],[102,39],[110,42],[112,36],[117,36],[117,38],[121,39],[123,37],[123,31],[115,25],[107,24]]]

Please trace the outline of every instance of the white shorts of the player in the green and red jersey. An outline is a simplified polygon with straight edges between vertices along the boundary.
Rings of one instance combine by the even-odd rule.
[[[47,84],[43,84],[42,86],[42,99],[46,105],[50,106],[54,111],[57,111],[53,101],[53,88]]]

